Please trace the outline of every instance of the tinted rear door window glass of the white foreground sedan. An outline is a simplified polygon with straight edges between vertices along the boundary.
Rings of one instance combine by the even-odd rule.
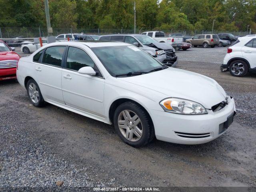
[[[53,46],[46,49],[42,62],[60,67],[65,46]]]

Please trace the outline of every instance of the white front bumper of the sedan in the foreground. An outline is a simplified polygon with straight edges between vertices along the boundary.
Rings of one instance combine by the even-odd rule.
[[[236,107],[234,99],[228,99],[228,105],[217,112],[208,110],[208,114],[181,115],[159,110],[150,110],[158,140],[178,144],[202,144],[212,141],[226,132],[224,122],[233,118]],[[195,136],[196,135],[196,136]]]

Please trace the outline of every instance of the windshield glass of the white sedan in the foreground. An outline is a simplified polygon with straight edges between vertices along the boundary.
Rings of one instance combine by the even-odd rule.
[[[106,46],[91,48],[100,59],[106,70],[112,75],[130,72],[149,72],[163,67],[148,53],[136,46]]]

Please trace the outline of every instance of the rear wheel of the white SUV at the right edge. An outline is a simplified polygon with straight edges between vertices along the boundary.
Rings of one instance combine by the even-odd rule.
[[[243,60],[235,60],[231,62],[229,66],[229,72],[232,76],[235,77],[245,76],[248,72],[248,65]]]

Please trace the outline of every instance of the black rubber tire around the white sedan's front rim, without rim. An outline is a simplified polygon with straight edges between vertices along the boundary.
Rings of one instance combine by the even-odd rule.
[[[130,140],[126,139],[122,135],[122,133],[118,127],[118,116],[124,110],[130,110],[130,111],[134,112],[135,114],[137,114],[138,117],[140,118],[140,122],[143,127],[142,128],[142,136],[137,141],[130,141]],[[125,123],[124,123],[124,126],[126,126]],[[136,104],[135,102],[132,102],[132,101],[124,102],[116,108],[116,110],[114,112],[114,128],[115,128],[118,136],[122,139],[122,141],[130,146],[133,146],[133,147],[144,146],[144,145],[148,144],[149,142],[151,142],[155,137],[154,127],[153,127],[150,117],[148,116],[148,113],[141,106],[139,106],[138,104]],[[128,130],[128,127],[127,127],[127,130]]]

